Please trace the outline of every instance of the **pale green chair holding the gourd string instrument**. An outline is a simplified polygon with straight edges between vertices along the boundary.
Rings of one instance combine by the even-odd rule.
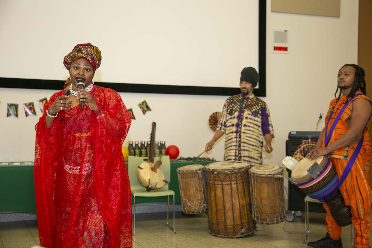
[[[169,183],[166,183],[164,187],[156,190],[146,191],[145,187],[143,187],[137,179],[137,167],[142,162],[144,162],[144,157],[128,157],[128,175],[129,181],[131,182],[131,191],[133,196],[133,203],[134,203],[134,218],[133,218],[133,234],[136,233],[136,196],[141,197],[158,197],[158,196],[168,196],[168,204],[167,204],[167,226],[176,233],[175,228],[175,213],[174,213],[174,191],[168,189],[170,183],[170,159],[169,156],[162,156],[161,157],[161,166],[160,170],[164,174],[164,178]],[[159,157],[155,157],[154,161],[159,160]],[[173,228],[169,226],[169,196],[173,196]]]

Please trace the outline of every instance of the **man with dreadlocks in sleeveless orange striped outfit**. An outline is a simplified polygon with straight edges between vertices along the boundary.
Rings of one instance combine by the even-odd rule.
[[[321,155],[328,155],[336,167],[339,178],[341,178],[343,171],[347,170],[346,166],[351,160],[350,172],[341,184],[340,191],[345,204],[350,206],[352,212],[356,248],[369,247],[371,228],[372,191],[369,187],[369,164],[372,148],[368,134],[368,123],[371,120],[372,106],[371,100],[366,96],[364,77],[365,72],[358,65],[346,64],[341,67],[337,76],[337,90],[334,94],[336,97],[337,91],[340,89],[339,96],[331,101],[325,118],[327,125],[320,134],[316,148],[307,155],[307,158],[311,160]],[[343,107],[344,110],[342,110]],[[338,119],[339,113],[340,118]],[[333,125],[334,129],[330,131]],[[325,144],[327,142],[328,145]],[[352,154],[355,150],[357,156],[353,162]],[[309,242],[308,247],[341,248],[341,227],[334,221],[327,204],[323,203],[323,207],[327,211],[325,216],[327,234],[325,238]]]

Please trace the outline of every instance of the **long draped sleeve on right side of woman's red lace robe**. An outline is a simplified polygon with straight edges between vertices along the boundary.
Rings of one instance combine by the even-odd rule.
[[[131,191],[121,150],[131,118],[116,91],[100,89],[102,91],[96,100],[96,127],[93,132],[97,201],[110,234],[113,235],[110,240],[113,242],[112,247],[119,247],[115,240],[120,239],[120,247],[131,247]]]

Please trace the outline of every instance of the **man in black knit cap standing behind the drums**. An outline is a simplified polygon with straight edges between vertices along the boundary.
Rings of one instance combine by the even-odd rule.
[[[253,94],[258,81],[259,74],[255,68],[246,67],[241,71],[241,94],[225,101],[216,133],[205,145],[206,151],[225,134],[224,161],[262,165],[262,148],[266,152],[273,150],[274,130],[267,104]]]

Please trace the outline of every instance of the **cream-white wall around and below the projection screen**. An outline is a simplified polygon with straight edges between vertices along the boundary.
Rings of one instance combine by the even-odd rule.
[[[275,139],[272,154],[264,153],[264,163],[281,164],[285,156],[285,140],[288,133],[315,131],[319,113],[325,115],[333,98],[339,68],[345,63],[357,62],[358,4],[352,0],[341,1],[339,18],[271,13],[270,9],[268,0],[267,97],[263,100],[269,105]],[[270,53],[272,29],[290,30],[290,54]],[[43,38],[38,39],[42,41]],[[235,78],[231,78],[232,86],[238,87],[239,77],[237,74]],[[35,102],[42,97],[49,99],[52,93],[53,91],[49,90],[0,88],[0,161],[33,160],[33,133],[37,118],[35,116],[25,118],[22,109],[19,109],[18,119],[6,118],[6,103]],[[150,136],[151,122],[155,121],[157,139],[165,140],[166,145],[177,145],[183,157],[193,157],[203,151],[205,143],[213,135],[208,127],[208,117],[215,111],[221,111],[226,98],[120,94],[126,106],[134,109],[137,118],[132,122],[127,141],[147,140]],[[142,115],[137,106],[142,100],[147,100],[153,111]],[[39,115],[39,110],[36,111]],[[7,127],[10,125],[11,130],[4,129],[3,123],[6,123]],[[124,142],[125,146],[127,141]],[[223,146],[223,141],[220,141],[208,156],[222,160]]]

